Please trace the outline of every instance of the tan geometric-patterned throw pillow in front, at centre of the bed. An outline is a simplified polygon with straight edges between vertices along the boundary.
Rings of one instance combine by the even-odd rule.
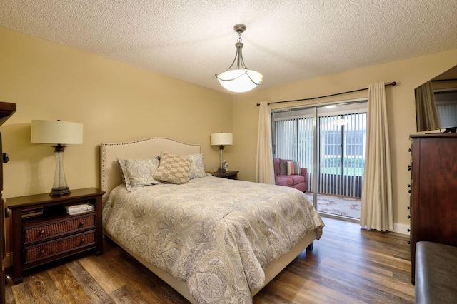
[[[157,168],[154,178],[168,183],[187,183],[189,182],[190,170],[191,161],[189,158],[162,151],[159,168]]]

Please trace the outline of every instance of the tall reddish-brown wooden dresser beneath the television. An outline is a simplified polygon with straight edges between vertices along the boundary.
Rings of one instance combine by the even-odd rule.
[[[457,246],[457,134],[411,135],[411,281],[416,243]]]

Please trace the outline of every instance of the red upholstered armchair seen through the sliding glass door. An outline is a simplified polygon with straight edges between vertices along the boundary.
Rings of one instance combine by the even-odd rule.
[[[274,180],[276,185],[296,188],[303,192],[308,191],[308,169],[300,168],[299,175],[288,175],[286,172],[286,161],[291,160],[281,159],[277,157],[273,159]]]

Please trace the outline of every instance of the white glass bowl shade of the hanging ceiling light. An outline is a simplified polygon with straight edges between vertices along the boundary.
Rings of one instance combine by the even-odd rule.
[[[262,83],[262,74],[248,69],[229,70],[217,76],[221,86],[229,91],[243,93]]]

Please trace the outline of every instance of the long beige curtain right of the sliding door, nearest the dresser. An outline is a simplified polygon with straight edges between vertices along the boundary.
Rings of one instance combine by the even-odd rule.
[[[384,83],[368,87],[365,171],[360,225],[393,230],[391,154]]]

